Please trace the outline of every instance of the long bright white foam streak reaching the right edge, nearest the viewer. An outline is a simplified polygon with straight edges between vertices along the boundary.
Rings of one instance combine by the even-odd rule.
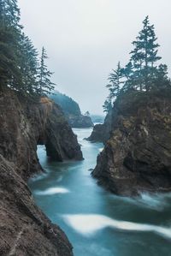
[[[82,235],[91,235],[100,229],[113,228],[125,231],[154,232],[171,239],[171,229],[150,224],[118,221],[103,215],[64,215],[64,220]]]

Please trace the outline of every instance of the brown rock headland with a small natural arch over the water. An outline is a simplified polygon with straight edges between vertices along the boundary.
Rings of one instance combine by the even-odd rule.
[[[15,166],[21,176],[41,170],[37,145],[44,144],[50,158],[58,161],[82,159],[76,135],[62,110],[49,98],[35,103],[14,92],[0,95],[0,153]]]

